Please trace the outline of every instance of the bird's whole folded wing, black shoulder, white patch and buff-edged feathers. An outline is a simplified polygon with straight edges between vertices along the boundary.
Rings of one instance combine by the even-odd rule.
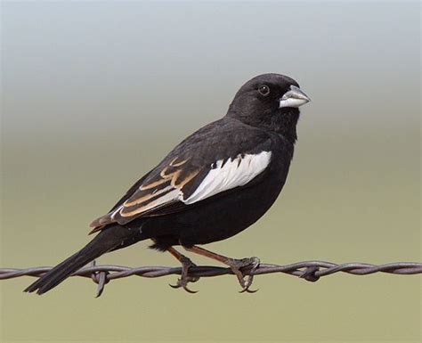
[[[272,156],[269,137],[249,131],[214,124],[191,135],[134,184],[108,214],[94,220],[93,232],[140,216],[174,213],[248,184],[268,167]]]

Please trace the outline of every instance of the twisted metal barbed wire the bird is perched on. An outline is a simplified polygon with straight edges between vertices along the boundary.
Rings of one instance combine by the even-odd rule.
[[[0,268],[0,280],[7,280],[21,276],[40,277],[47,273],[51,266],[39,266],[31,268]],[[294,275],[308,282],[316,282],[323,276],[336,273],[345,273],[353,275],[369,275],[375,273],[386,274],[422,274],[422,263],[418,262],[395,262],[385,265],[371,265],[367,263],[345,263],[338,265],[325,261],[303,261],[290,265],[271,265],[260,264],[255,270],[245,269],[242,271],[245,275],[262,275],[283,273]],[[182,267],[169,266],[141,266],[128,267],[122,265],[96,265],[95,261],[91,265],[79,269],[72,276],[81,276],[91,278],[98,284],[97,297],[100,297],[104,287],[111,280],[118,280],[129,276],[141,276],[147,278],[157,278],[167,275],[182,274]],[[189,269],[191,278],[214,277],[233,274],[231,268],[197,265]]]

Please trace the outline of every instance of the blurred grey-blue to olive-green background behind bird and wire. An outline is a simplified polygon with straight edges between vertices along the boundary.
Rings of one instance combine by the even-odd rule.
[[[87,225],[248,78],[296,78],[303,107],[280,200],[207,248],[268,263],[420,260],[420,4],[2,2],[1,266],[55,265]],[[177,265],[142,242],[101,257]],[[198,263],[209,261],[194,257]],[[3,342],[421,339],[421,278],[310,283],[71,279],[43,297],[1,282]]]

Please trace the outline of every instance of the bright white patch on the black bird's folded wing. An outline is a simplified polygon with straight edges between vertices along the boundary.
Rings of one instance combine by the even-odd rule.
[[[262,151],[256,155],[238,155],[223,163],[220,159],[213,164],[207,176],[188,199],[180,199],[185,204],[192,204],[207,199],[217,193],[248,184],[261,174],[270,164],[271,151]]]

